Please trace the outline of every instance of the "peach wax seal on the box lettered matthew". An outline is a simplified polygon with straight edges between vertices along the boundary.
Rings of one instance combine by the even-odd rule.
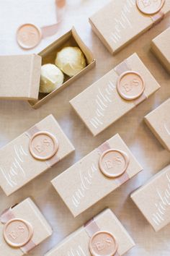
[[[144,90],[145,81],[138,72],[123,72],[117,80],[117,91],[125,100],[132,101],[139,98]]]

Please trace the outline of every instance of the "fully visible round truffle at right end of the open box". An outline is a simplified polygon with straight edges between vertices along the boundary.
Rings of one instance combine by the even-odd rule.
[[[79,47],[65,47],[58,52],[55,65],[67,74],[69,77],[73,77],[79,73],[81,69],[86,67],[86,59]]]

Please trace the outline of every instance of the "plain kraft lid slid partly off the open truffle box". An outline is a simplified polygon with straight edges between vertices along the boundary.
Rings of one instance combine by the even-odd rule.
[[[0,65],[0,98],[37,99],[40,86],[40,56],[0,56]]]

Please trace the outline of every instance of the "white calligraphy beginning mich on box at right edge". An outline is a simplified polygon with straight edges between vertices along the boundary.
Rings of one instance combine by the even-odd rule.
[[[156,189],[156,196],[158,196],[159,201],[155,203],[156,213],[153,213],[152,220],[159,226],[165,221],[166,210],[170,207],[170,176],[166,173],[166,179],[168,180],[167,187],[164,192],[160,192]]]

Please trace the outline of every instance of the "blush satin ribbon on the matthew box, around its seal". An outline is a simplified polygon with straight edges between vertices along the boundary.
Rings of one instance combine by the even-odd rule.
[[[122,61],[120,64],[117,65],[117,67],[115,67],[115,72],[118,74],[118,76],[120,76],[122,73],[124,73],[126,71],[133,71],[133,69],[130,67],[130,64],[128,64],[127,59],[125,59],[125,61]],[[148,98],[148,97],[146,96],[145,91],[144,91],[143,94],[140,95],[140,97],[136,98],[132,102],[135,104],[135,106],[138,106],[140,103],[145,101],[146,98]]]

